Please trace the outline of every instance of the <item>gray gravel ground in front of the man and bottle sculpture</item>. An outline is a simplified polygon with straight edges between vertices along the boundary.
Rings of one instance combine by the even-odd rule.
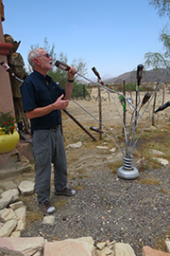
[[[144,184],[142,180],[157,180],[158,184]],[[42,235],[48,241],[92,236],[95,243],[115,240],[130,244],[136,255],[142,247],[155,247],[158,238],[170,231],[170,169],[144,171],[135,181],[118,179],[111,172],[94,170],[72,180],[77,186],[74,197],[55,196],[51,202],[66,200],[54,214],[53,227],[42,219],[29,224],[22,236]],[[36,197],[28,210],[36,211]]]

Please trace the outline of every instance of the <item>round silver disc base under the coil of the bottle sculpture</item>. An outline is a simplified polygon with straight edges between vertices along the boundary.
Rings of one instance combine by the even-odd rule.
[[[139,177],[139,171],[135,167],[131,170],[126,170],[123,166],[117,171],[117,176],[122,179],[132,180]]]

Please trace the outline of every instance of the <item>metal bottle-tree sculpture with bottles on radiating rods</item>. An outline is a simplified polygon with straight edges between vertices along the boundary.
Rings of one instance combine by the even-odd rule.
[[[63,64],[59,61],[56,62],[55,64],[57,67],[68,71],[70,66],[67,64]],[[146,112],[146,109],[148,108],[150,102],[152,101],[152,99],[154,98],[154,96],[156,95],[158,89],[161,86],[161,82],[164,80],[168,69],[166,69],[165,74],[163,75],[163,77],[161,78],[161,82],[160,84],[157,86],[157,89],[154,91],[153,95],[151,96],[150,94],[146,93],[144,95],[143,100],[140,100],[140,84],[141,84],[141,80],[143,77],[143,68],[144,65],[143,64],[139,64],[137,66],[137,83],[136,83],[136,102],[135,102],[135,106],[132,104],[132,101],[129,98],[125,98],[125,96],[117,91],[114,91],[112,89],[110,89],[109,87],[105,86],[103,82],[99,82],[100,76],[98,74],[98,72],[96,71],[96,69],[93,67],[93,72],[94,74],[97,76],[98,78],[98,82],[93,82],[91,80],[89,80],[88,78],[82,76],[81,74],[76,72],[76,75],[82,77],[83,79],[89,81],[89,82],[93,82],[94,84],[96,84],[97,86],[100,86],[104,89],[106,89],[106,91],[108,92],[108,94],[110,95],[110,98],[113,99],[116,109],[119,113],[120,119],[123,123],[123,127],[124,127],[124,133],[125,133],[125,149],[122,148],[120,142],[118,141],[117,137],[112,133],[112,131],[102,122],[100,122],[98,119],[96,119],[95,117],[93,117],[93,115],[88,112],[85,108],[83,108],[80,104],[78,104],[76,101],[74,101],[79,107],[81,107],[86,113],[88,113],[93,119],[95,119],[97,122],[101,123],[102,126],[104,127],[104,129],[106,130],[99,130],[96,127],[91,126],[90,128],[98,133],[103,133],[104,135],[106,135],[107,137],[110,137],[110,139],[114,142],[114,144],[118,147],[118,149],[121,151],[122,155],[123,155],[123,166],[120,167],[117,171],[117,176],[119,178],[122,179],[136,179],[139,176],[139,171],[137,170],[137,168],[132,166],[132,159],[133,159],[133,153],[136,147],[136,144],[139,140],[139,138],[141,137],[141,135],[144,132],[145,127],[147,126],[148,122],[152,119],[153,115],[155,113],[158,113],[159,111],[165,109],[166,107],[170,106],[170,101],[167,101],[165,104],[161,105],[152,115],[151,117],[148,119],[148,121],[146,122],[146,124],[144,125],[144,128],[142,130],[142,132],[140,133],[140,135],[138,137],[136,137],[136,130],[137,130],[137,126],[139,124],[139,122],[141,121],[141,119],[144,117],[144,113]],[[119,110],[119,107],[115,101],[115,97],[113,96],[113,94],[118,95],[122,106],[124,107],[124,111],[126,111],[126,105],[128,104],[131,110],[131,119],[130,119],[130,124],[128,127],[128,131],[127,131],[127,127],[125,126],[125,123],[123,121],[121,112]],[[143,107],[145,105],[145,107]],[[142,112],[142,114],[140,114],[140,112]]]

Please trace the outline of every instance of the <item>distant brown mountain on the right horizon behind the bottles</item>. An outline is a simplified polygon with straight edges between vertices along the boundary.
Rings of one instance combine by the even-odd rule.
[[[152,70],[144,70],[143,71],[143,78],[141,82],[157,82],[158,79],[161,81],[162,77],[164,76],[166,72],[165,68],[157,68]],[[124,73],[116,78],[110,78],[105,80],[105,83],[114,83],[114,84],[122,84],[125,80],[126,83],[136,83],[137,71],[131,71]],[[163,82],[170,82],[170,72],[166,74],[165,78],[163,79]]]

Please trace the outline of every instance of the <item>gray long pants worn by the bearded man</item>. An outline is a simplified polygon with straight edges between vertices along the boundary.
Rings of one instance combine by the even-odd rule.
[[[60,129],[34,131],[33,155],[35,159],[35,190],[40,203],[49,201],[51,163],[54,163],[54,186],[60,191],[67,186],[67,164]]]

